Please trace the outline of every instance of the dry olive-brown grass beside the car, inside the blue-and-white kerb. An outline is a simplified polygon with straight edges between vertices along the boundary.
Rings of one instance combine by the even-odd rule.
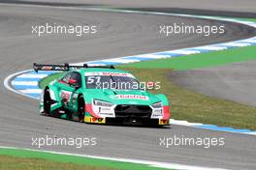
[[[122,68],[124,69],[124,68]],[[242,105],[225,99],[215,99],[194,93],[177,86],[167,77],[169,69],[132,69],[141,81],[160,81],[161,89],[153,93],[165,94],[171,102],[172,118],[220,127],[256,129],[256,108]],[[52,79],[60,76],[48,76],[40,82],[44,87]]]

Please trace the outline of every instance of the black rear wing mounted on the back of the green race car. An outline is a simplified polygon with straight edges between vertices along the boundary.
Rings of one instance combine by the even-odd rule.
[[[46,65],[46,64],[33,64],[34,71],[71,71],[78,70],[81,68],[106,68],[106,69],[114,69],[113,66],[88,66],[87,64],[83,64],[82,66],[75,66],[65,63],[64,65]]]

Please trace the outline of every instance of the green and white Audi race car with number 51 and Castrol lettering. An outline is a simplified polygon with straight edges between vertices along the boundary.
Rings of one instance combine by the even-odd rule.
[[[92,124],[169,125],[169,100],[153,95],[128,71],[112,66],[34,64],[35,71],[64,71],[40,98],[40,112]]]

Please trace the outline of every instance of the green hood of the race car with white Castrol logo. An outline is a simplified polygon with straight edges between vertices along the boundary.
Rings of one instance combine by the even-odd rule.
[[[142,104],[150,105],[160,101],[154,95],[140,90],[112,90],[112,89],[89,89],[86,90],[90,99],[101,99],[113,104]],[[86,95],[88,97],[88,95]]]

